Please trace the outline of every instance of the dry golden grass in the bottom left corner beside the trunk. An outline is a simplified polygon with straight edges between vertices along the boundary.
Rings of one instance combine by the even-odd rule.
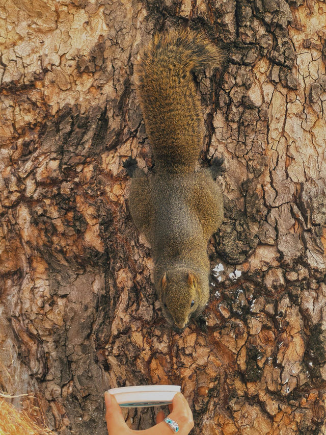
[[[33,413],[34,411],[34,413]],[[55,435],[55,432],[42,428],[30,415],[38,410],[18,411],[15,406],[0,397],[0,435]]]

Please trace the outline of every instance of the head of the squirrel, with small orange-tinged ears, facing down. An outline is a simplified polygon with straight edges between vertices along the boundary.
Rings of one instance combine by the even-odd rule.
[[[183,329],[200,306],[199,276],[187,269],[169,270],[159,283],[162,310],[168,322]]]

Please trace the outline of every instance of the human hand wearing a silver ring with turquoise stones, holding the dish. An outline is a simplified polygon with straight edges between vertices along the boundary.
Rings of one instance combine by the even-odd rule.
[[[164,412],[160,411],[156,416],[156,425],[146,430],[130,429],[122,416],[121,408],[113,394],[105,392],[106,414],[105,420],[108,435],[173,435],[173,430],[163,420]],[[173,398],[173,403],[169,405],[171,420],[179,425],[178,435],[188,435],[194,427],[193,414],[188,402],[181,393],[177,393]]]

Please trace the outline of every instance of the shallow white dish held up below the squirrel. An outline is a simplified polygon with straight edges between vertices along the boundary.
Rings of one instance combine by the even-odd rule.
[[[179,385],[138,385],[108,390],[120,406],[130,408],[168,405],[179,392]]]

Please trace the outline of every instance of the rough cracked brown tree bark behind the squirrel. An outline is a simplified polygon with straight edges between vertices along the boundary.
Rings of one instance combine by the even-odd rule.
[[[325,433],[325,3],[0,12],[1,389],[35,392],[60,434],[104,434],[104,390],[147,383],[182,386],[196,435]],[[208,247],[207,330],[182,334],[160,315],[122,167],[153,164],[133,64],[171,26],[204,29],[229,55],[195,77],[226,212]],[[126,418],[145,428],[154,411]]]

